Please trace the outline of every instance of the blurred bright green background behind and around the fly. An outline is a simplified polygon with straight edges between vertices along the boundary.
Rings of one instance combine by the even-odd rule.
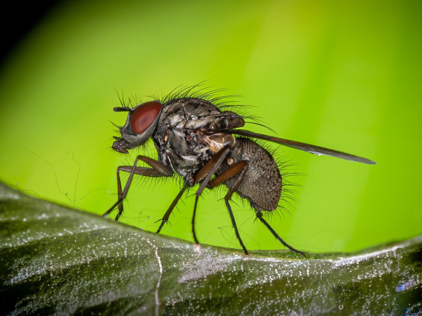
[[[0,179],[102,214],[116,201],[110,150],[125,95],[208,80],[279,137],[377,161],[368,166],[283,147],[302,185],[271,225],[311,252],[354,251],[422,233],[420,1],[69,1],[15,47],[0,74]],[[249,129],[272,134],[260,126]],[[153,158],[156,153],[149,151]],[[74,160],[73,160],[74,159]],[[156,231],[176,183],[131,187],[123,222]],[[221,198],[221,194],[217,196]],[[162,233],[192,240],[194,199]],[[236,205],[249,249],[282,249]],[[203,243],[238,248],[223,201],[199,202]]]

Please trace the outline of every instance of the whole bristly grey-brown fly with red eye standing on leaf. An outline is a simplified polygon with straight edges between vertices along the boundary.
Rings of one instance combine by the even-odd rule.
[[[138,155],[133,166],[117,168],[118,200],[104,215],[108,215],[117,207],[115,220],[119,219],[123,212],[123,200],[135,174],[144,177],[173,177],[176,173],[183,178],[183,185],[162,217],[157,233],[168,221],[184,191],[199,184],[192,215],[192,235],[195,243],[199,245],[195,233],[198,198],[205,188],[211,190],[216,186],[225,185],[228,192],[224,201],[236,237],[246,255],[248,251],[239,235],[230,206],[233,193],[249,201],[257,219],[281,244],[306,257],[302,251],[281,239],[263,217],[265,213],[277,209],[281,199],[283,177],[273,156],[253,139],[262,139],[308,153],[349,161],[366,164],[376,162],[337,150],[242,129],[245,125],[244,116],[224,110],[225,106],[221,104],[215,105],[216,99],[210,100],[209,94],[190,94],[192,88],[195,86],[168,95],[163,102],[157,98],[135,107],[127,107],[122,103],[122,107],[114,108],[114,112],[128,112],[128,114],[126,123],[119,128],[121,137],[114,137],[116,141],[112,148],[119,153],[128,153],[128,150],[144,145],[151,138],[158,159]],[[150,167],[137,166],[139,160]],[[123,190],[120,181],[121,171],[130,174]],[[212,178],[213,176],[215,177]]]

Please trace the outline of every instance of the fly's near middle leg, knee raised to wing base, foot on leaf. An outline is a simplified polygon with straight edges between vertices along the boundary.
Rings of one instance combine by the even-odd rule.
[[[205,166],[198,171],[198,173],[194,177],[194,181],[198,182],[200,180],[203,180],[198,188],[198,190],[195,193],[195,206],[193,207],[193,215],[192,215],[192,235],[193,239],[195,240],[196,244],[199,244],[198,239],[196,238],[195,233],[195,215],[196,215],[196,206],[198,204],[198,198],[200,197],[202,191],[210,181],[213,174],[216,173],[216,171],[221,166],[223,160],[226,158],[227,154],[230,152],[231,146],[226,145],[221,150],[219,150],[218,153],[214,155],[206,164]]]

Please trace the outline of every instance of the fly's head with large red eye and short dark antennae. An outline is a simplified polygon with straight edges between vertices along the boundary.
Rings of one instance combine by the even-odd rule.
[[[114,112],[128,112],[126,123],[120,127],[122,137],[114,137],[116,141],[112,148],[119,153],[128,153],[146,143],[157,127],[158,119],[162,110],[160,101],[150,101],[139,104],[134,108],[115,107]]]

